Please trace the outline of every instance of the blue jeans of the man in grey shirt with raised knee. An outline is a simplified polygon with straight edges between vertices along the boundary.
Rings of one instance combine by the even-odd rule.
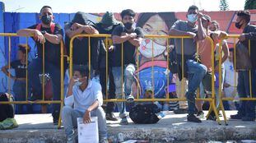
[[[198,89],[202,78],[206,75],[207,73],[207,67],[204,65],[195,62],[191,59],[186,61],[187,67],[188,67],[188,92],[186,93],[186,98],[188,100],[188,106],[189,114],[195,113],[195,97],[196,97],[196,90]]]

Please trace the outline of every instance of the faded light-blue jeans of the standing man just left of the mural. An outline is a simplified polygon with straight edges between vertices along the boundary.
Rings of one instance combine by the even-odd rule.
[[[134,72],[135,66],[133,64],[128,64],[128,66],[125,67],[125,69],[123,70],[124,79],[122,85],[122,67],[112,67],[115,85],[115,95],[117,99],[125,99],[123,95],[128,96],[132,94],[131,88],[134,81]],[[122,91],[124,91],[124,94],[122,94]],[[128,114],[126,113],[125,102],[118,102],[117,105],[119,108],[120,118],[126,118]]]

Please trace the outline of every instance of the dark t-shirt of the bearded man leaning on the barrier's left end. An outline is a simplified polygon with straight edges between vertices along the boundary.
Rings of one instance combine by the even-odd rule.
[[[28,27],[28,29],[36,29],[36,25],[31,25]],[[52,35],[63,35],[63,29],[60,25],[55,24],[54,28],[54,33],[52,33],[51,28],[44,28],[41,26],[41,30],[45,30],[47,33],[52,34]],[[34,39],[35,40],[35,39]],[[40,44],[40,42],[36,42],[36,47],[37,47],[37,54],[38,58],[43,58],[43,44]],[[51,62],[56,66],[60,65],[60,44],[52,44],[50,43],[47,39],[46,42],[44,43],[44,59],[47,62]]]

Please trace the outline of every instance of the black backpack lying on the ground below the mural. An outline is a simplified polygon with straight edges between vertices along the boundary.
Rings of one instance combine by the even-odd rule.
[[[137,104],[131,109],[129,116],[134,123],[151,124],[159,121],[156,113],[161,109],[156,104]]]

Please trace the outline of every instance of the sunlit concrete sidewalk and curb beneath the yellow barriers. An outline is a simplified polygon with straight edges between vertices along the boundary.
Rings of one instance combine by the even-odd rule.
[[[227,117],[235,111],[226,111]],[[206,114],[205,114],[206,115]],[[19,127],[0,131],[0,142],[64,142],[63,128],[58,130],[52,123],[50,114],[16,115]],[[143,139],[151,142],[191,142],[191,141],[238,141],[256,139],[256,122],[230,120],[226,126],[217,122],[186,122],[186,114],[167,113],[160,122],[151,125],[137,125],[129,120],[129,125],[108,121],[109,136],[123,133],[124,140]]]

